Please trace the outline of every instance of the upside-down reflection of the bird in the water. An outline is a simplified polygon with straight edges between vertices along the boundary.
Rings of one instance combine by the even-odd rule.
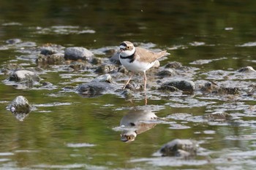
[[[132,142],[138,134],[148,131],[157,125],[152,120],[157,120],[157,115],[154,112],[146,109],[132,109],[127,115],[124,115],[120,121],[120,125],[124,128],[121,131],[121,141]]]

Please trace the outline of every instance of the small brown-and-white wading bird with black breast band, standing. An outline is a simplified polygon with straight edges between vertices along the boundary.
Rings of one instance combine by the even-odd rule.
[[[120,63],[129,71],[132,72],[131,77],[124,85],[124,88],[129,84],[129,81],[132,79],[134,72],[143,72],[144,73],[144,91],[146,91],[146,71],[154,66],[154,63],[157,61],[158,58],[162,56],[169,55],[165,51],[161,51],[158,53],[154,53],[152,51],[146,50],[141,47],[135,47],[132,42],[122,42],[119,45],[120,50],[119,53],[119,60]],[[123,89],[124,89],[123,88]]]

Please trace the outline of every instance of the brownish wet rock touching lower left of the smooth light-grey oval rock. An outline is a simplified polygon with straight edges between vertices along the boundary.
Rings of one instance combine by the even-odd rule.
[[[38,65],[45,64],[63,64],[65,63],[64,54],[63,53],[54,53],[52,55],[39,55],[36,60]]]

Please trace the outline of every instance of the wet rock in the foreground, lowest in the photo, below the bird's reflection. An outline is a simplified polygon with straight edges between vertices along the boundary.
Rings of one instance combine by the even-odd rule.
[[[174,139],[159,150],[162,156],[190,157],[197,154],[198,144],[194,140]]]

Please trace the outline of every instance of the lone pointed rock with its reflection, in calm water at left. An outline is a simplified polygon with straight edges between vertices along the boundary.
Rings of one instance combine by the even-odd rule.
[[[31,112],[29,101],[23,96],[16,97],[8,105],[7,109],[10,109],[12,114],[20,121],[23,121],[29,115],[29,112]]]

